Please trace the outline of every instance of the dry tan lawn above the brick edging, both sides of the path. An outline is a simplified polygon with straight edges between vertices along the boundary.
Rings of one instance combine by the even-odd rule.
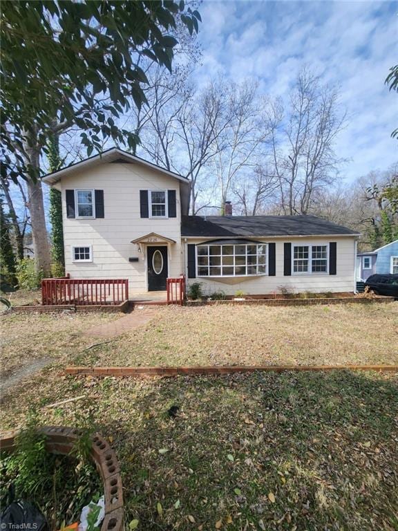
[[[82,331],[115,319],[120,314],[3,315],[2,371],[44,358],[123,366],[398,364],[397,304],[161,307],[148,324],[84,350],[104,339]]]

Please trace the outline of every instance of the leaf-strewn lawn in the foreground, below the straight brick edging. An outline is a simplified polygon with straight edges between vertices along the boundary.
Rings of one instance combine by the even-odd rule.
[[[138,530],[398,526],[397,374],[94,380],[53,369],[6,395],[2,427],[28,407],[46,424],[93,418],[120,458],[126,524]]]

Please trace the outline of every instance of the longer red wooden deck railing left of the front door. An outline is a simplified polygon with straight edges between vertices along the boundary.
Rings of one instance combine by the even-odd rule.
[[[129,299],[127,279],[43,279],[41,304],[53,305],[105,305],[121,304]]]

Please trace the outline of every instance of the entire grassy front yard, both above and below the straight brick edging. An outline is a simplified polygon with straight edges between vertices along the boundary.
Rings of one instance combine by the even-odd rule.
[[[398,373],[134,380],[61,371],[72,361],[397,363],[396,304],[159,308],[146,326],[84,351],[96,339],[82,331],[118,317],[4,315],[8,370],[53,363],[3,394],[1,428],[22,425],[31,408],[42,424],[92,418],[120,459],[126,524],[138,519],[139,531],[398,529]]]

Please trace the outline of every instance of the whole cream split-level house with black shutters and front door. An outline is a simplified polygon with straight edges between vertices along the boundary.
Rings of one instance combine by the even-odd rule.
[[[185,274],[205,292],[352,292],[357,236],[314,216],[189,216],[189,180],[120,149],[48,174],[66,272],[129,279],[131,297]]]

